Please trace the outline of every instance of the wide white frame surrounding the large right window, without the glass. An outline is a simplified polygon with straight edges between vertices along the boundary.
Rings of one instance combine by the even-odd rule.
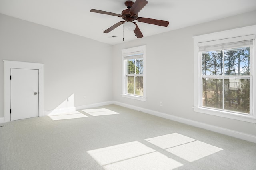
[[[256,123],[256,78],[255,67],[256,67],[256,45],[255,45],[255,35],[256,35],[256,25],[248,26],[243,28],[236,28],[232,30],[226,30],[222,32],[215,32],[211,34],[204,34],[200,36],[194,36],[194,111],[199,113],[205,113],[209,115],[215,115],[219,117],[226,117],[229,119],[236,119],[240,121],[246,121],[251,123]],[[252,96],[252,102],[250,101],[250,114],[239,114],[232,111],[222,111],[211,108],[201,107],[201,71],[202,62],[198,50],[198,43],[205,45],[213,45],[214,43],[228,43],[230,41],[242,41],[246,38],[254,39],[254,48],[250,51],[250,79],[252,82],[252,91],[250,96]]]

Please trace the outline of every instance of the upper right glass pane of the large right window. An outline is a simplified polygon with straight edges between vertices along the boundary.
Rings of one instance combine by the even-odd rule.
[[[250,47],[226,50],[225,75],[250,75]]]

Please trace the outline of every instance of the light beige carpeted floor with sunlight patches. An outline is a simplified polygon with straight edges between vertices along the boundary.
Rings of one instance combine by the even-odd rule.
[[[0,170],[256,169],[255,143],[117,105],[0,126]]]

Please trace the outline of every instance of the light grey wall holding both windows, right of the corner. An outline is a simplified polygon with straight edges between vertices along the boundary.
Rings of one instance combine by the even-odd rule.
[[[114,45],[114,101],[256,136],[253,123],[193,111],[193,36],[256,24],[256,11]],[[170,26],[172,22],[170,21]],[[143,33],[143,30],[141,30]],[[121,97],[121,49],[146,45],[146,102]],[[163,106],[159,105],[160,101]]]

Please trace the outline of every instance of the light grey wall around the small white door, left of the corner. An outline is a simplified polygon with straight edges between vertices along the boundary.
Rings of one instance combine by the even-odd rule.
[[[112,100],[112,45],[0,14],[0,117],[3,60],[44,63],[44,111]]]

